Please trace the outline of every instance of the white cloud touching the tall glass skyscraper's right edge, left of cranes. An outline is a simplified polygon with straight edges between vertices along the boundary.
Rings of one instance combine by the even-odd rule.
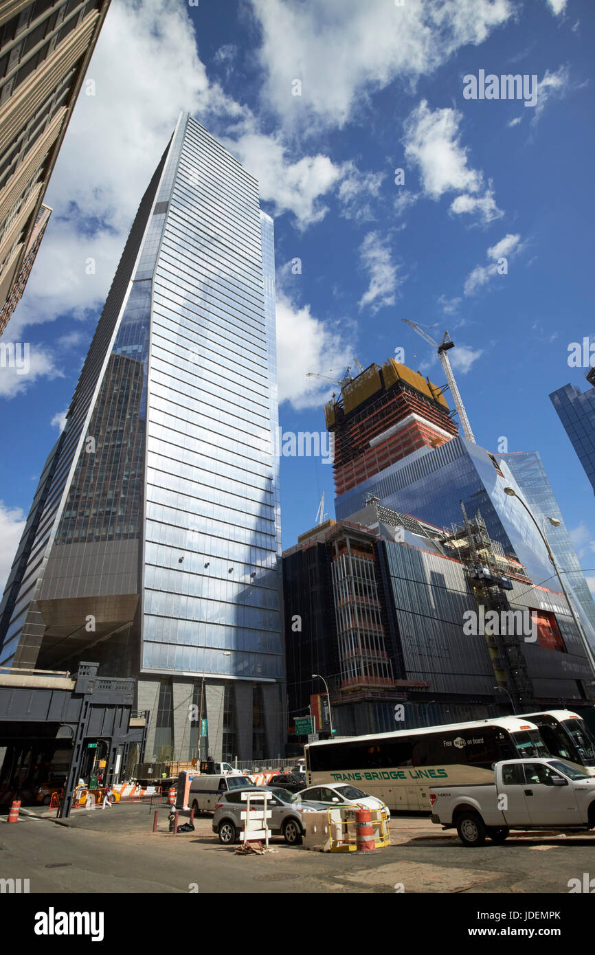
[[[351,364],[353,346],[345,324],[333,327],[315,318],[309,305],[297,306],[277,291],[277,371],[279,402],[289,401],[296,411],[320,408],[332,392],[339,391],[308,371],[342,376]]]

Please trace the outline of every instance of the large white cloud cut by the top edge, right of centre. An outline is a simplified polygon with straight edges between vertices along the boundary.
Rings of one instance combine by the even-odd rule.
[[[411,85],[514,13],[509,0],[251,0],[266,103],[286,125],[343,126],[375,90]],[[301,96],[291,95],[294,79]]]

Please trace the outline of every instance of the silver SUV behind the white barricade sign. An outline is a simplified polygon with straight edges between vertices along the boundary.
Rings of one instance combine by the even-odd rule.
[[[242,793],[252,795],[258,792],[266,792],[270,795],[270,798],[266,800],[266,809],[271,811],[271,816],[267,820],[271,835],[283,836],[287,845],[297,845],[301,842],[304,835],[302,814],[319,812],[320,806],[302,802],[301,799],[296,799],[293,794],[288,793],[287,789],[277,786],[251,786],[249,789],[236,789],[232,793],[223,793],[215,806],[213,816],[213,832],[217,833],[219,841],[223,845],[237,842],[244,829],[241,813],[245,811],[246,802],[242,798]],[[263,803],[254,803],[254,805],[262,807]]]

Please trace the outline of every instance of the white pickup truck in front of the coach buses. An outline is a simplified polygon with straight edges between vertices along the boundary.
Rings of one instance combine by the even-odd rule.
[[[595,776],[563,759],[496,763],[494,783],[431,786],[432,821],[463,845],[501,844],[511,829],[595,828]]]

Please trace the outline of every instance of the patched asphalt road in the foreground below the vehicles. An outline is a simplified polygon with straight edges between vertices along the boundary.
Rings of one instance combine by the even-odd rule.
[[[555,893],[592,871],[595,834],[512,836],[462,846],[425,817],[391,821],[393,844],[373,853],[318,853],[273,839],[263,857],[220,845],[210,817],[174,837],[167,810],[152,833],[147,806],[78,811],[68,825],[41,817],[0,823],[0,878],[31,893]],[[539,853],[539,855],[538,855]]]

